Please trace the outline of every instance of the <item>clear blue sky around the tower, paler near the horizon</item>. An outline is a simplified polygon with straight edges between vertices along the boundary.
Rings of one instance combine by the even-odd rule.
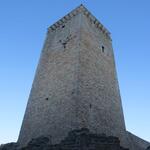
[[[17,140],[47,28],[81,3],[112,33],[126,127],[150,141],[149,0],[0,0],[0,143]]]

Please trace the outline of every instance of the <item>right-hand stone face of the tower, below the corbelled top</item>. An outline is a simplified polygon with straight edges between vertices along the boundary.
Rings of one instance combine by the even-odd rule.
[[[82,119],[86,119],[84,122],[92,132],[124,136],[111,40],[85,15],[82,18],[78,87]]]

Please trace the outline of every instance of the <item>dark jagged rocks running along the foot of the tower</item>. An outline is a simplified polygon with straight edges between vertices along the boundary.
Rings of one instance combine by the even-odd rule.
[[[97,135],[88,129],[73,130],[60,144],[52,145],[47,137],[32,139],[26,147],[19,148],[17,143],[0,146],[0,150],[128,150],[120,146],[117,137]],[[150,147],[147,148],[150,150]]]

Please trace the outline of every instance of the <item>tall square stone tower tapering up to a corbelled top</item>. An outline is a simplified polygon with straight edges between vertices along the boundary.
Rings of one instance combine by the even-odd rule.
[[[80,5],[48,28],[18,142],[83,127],[125,141],[110,33]]]

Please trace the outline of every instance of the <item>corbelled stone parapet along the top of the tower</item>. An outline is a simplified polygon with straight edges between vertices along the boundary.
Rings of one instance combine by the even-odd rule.
[[[92,15],[92,13],[83,5],[80,4],[77,8],[72,10],[70,13],[59,19],[57,22],[55,22],[53,25],[51,25],[48,30],[56,30],[58,27],[60,27],[63,23],[66,23],[68,20],[73,18],[74,16],[83,13],[84,15],[87,16],[87,18],[90,19],[92,23],[95,24],[97,28],[99,28],[106,36],[111,39],[111,33],[102,25],[102,23]]]

